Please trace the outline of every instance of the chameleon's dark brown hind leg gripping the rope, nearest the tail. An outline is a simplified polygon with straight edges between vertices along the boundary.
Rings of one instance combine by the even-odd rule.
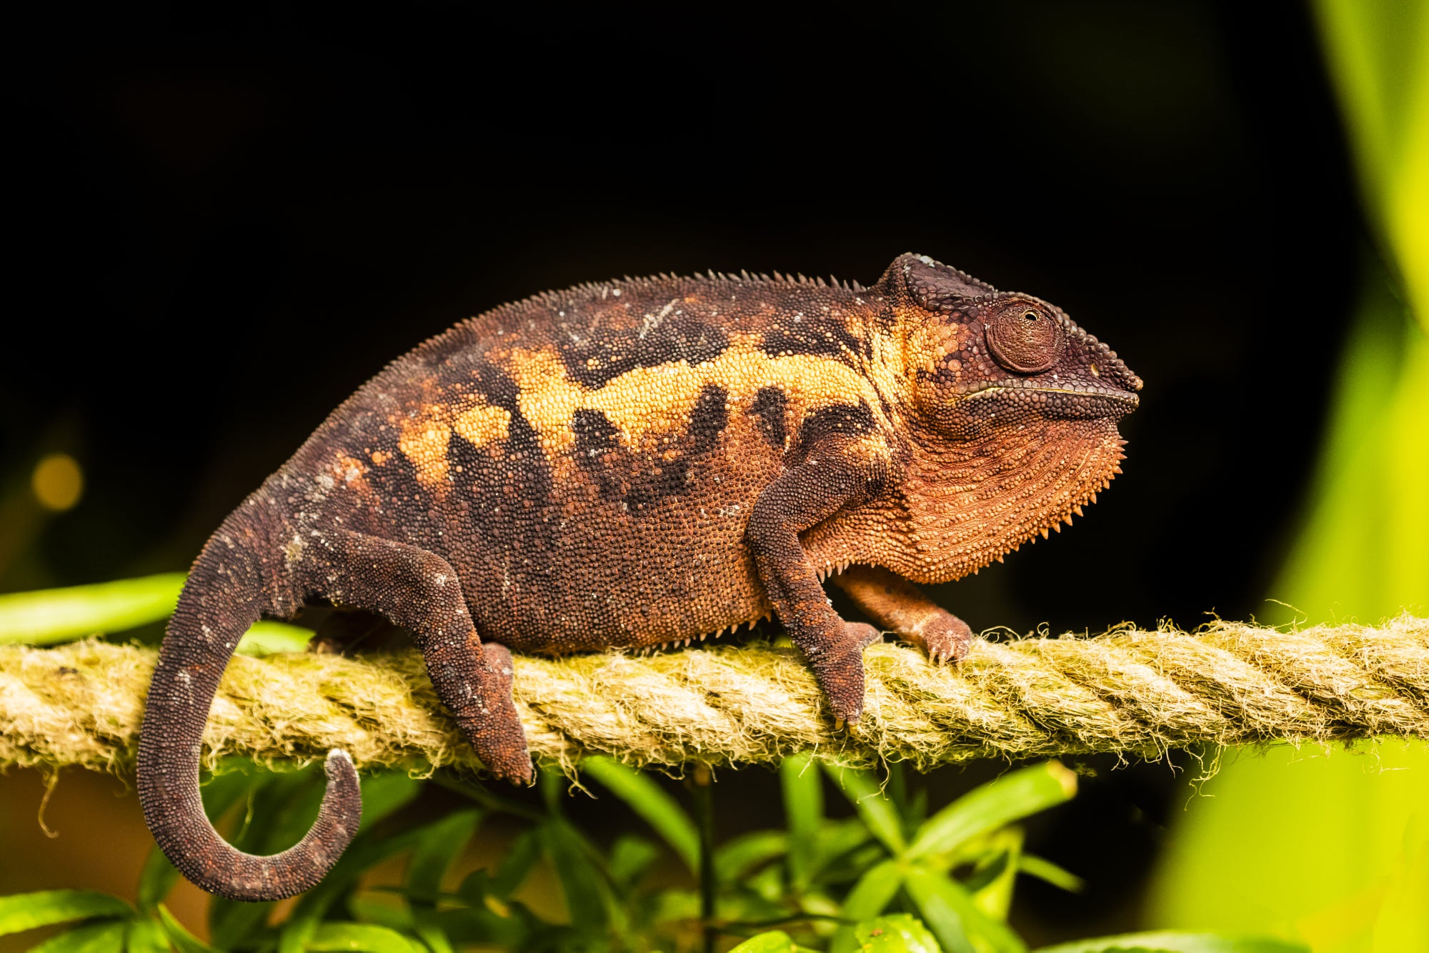
[[[504,780],[532,780],[526,732],[512,700],[512,653],[482,643],[450,563],[416,546],[327,530],[306,542],[299,573],[307,592],[410,629],[432,687],[482,763]]]

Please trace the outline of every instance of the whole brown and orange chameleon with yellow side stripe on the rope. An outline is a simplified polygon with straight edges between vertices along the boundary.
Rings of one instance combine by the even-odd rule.
[[[477,756],[516,783],[532,760],[509,649],[687,643],[773,613],[855,722],[880,634],[822,580],[960,659],[967,626],[912,583],[1080,514],[1120,471],[1140,387],[1052,304],[916,254],[869,289],[660,276],[462,321],[333,411],[203,547],[149,692],[149,827],[233,899],[292,896],[337,860],[360,814],[343,752],[313,829],[272,857],[227,844],[199,797],[239,637],[314,597],[410,629]]]

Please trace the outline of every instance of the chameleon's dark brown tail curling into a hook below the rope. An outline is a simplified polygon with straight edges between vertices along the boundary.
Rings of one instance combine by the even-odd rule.
[[[262,507],[230,516],[194,563],[169,623],[149,683],[139,734],[139,803],[159,847],[209,893],[230,900],[277,900],[307,890],[337,863],[362,817],[357,772],[346,752],[327,754],[327,790],[307,836],[270,857],[234,849],[209,823],[199,797],[203,726],[233,649],[264,612],[293,597],[260,553],[272,536],[256,532]]]

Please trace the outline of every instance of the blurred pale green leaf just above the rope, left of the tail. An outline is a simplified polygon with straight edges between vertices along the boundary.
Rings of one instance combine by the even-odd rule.
[[[0,644],[49,646],[173,614],[183,573],[0,596]]]

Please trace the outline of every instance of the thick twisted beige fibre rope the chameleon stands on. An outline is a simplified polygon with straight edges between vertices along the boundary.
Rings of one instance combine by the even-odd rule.
[[[133,766],[154,650],[103,642],[0,647],[0,769]],[[799,652],[769,643],[563,659],[516,656],[532,752],[572,767],[775,762],[796,752],[919,769],[972,759],[1196,743],[1429,739],[1429,620],[1285,632],[1218,622],[1195,633],[976,642],[959,666],[875,644],[863,719],[836,729]],[[204,734],[206,762],[304,763],[346,749],[359,767],[477,762],[416,652],[237,656]]]

